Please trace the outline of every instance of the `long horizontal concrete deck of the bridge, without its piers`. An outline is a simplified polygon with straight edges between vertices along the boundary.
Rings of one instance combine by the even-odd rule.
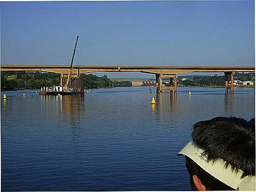
[[[141,72],[150,74],[185,74],[192,72],[255,72],[255,67],[191,67],[191,66],[73,66],[74,73],[91,72]],[[1,71],[43,71],[58,74],[68,74],[67,65],[9,65],[2,64]]]

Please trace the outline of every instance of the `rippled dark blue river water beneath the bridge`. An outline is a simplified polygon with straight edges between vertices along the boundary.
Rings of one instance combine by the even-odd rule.
[[[217,116],[255,116],[253,88],[233,94],[181,87],[172,94],[156,94],[154,87],[77,96],[35,91],[1,92],[2,191],[190,190],[185,158],[177,152],[193,125]]]

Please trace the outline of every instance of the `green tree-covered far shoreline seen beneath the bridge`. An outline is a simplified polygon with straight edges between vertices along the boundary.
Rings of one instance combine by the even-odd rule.
[[[252,81],[254,83],[254,85],[238,85],[234,87],[255,87],[254,73],[235,73],[234,76],[235,80]],[[93,74],[81,74],[80,77],[85,80],[85,86],[87,89],[131,87],[131,81],[134,79],[123,78],[121,80],[110,80],[107,78],[107,75],[99,77]],[[146,80],[141,79],[141,81]],[[169,81],[169,79],[166,81]],[[59,74],[40,72],[1,72],[1,91],[18,89],[40,89],[41,87],[50,87],[53,85],[59,85]],[[179,76],[178,87],[225,87],[225,76]]]

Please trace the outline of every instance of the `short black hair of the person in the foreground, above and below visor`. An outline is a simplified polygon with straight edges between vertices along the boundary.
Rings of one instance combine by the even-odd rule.
[[[226,161],[226,167],[231,166],[234,171],[244,171],[242,178],[255,175],[255,118],[249,122],[235,117],[200,121],[194,124],[192,138],[205,149],[203,155],[207,155],[208,161],[221,158]],[[219,180],[187,157],[186,161],[190,176],[196,174],[211,190],[230,190],[225,185],[216,188],[220,185]]]

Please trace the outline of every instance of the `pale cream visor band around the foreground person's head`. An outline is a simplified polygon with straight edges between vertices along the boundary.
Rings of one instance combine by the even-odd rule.
[[[255,175],[241,178],[244,173],[242,170],[232,170],[231,165],[226,168],[226,161],[220,158],[215,161],[207,161],[207,155],[202,155],[204,151],[196,143],[190,141],[178,155],[186,155],[207,173],[233,189],[255,191]]]

